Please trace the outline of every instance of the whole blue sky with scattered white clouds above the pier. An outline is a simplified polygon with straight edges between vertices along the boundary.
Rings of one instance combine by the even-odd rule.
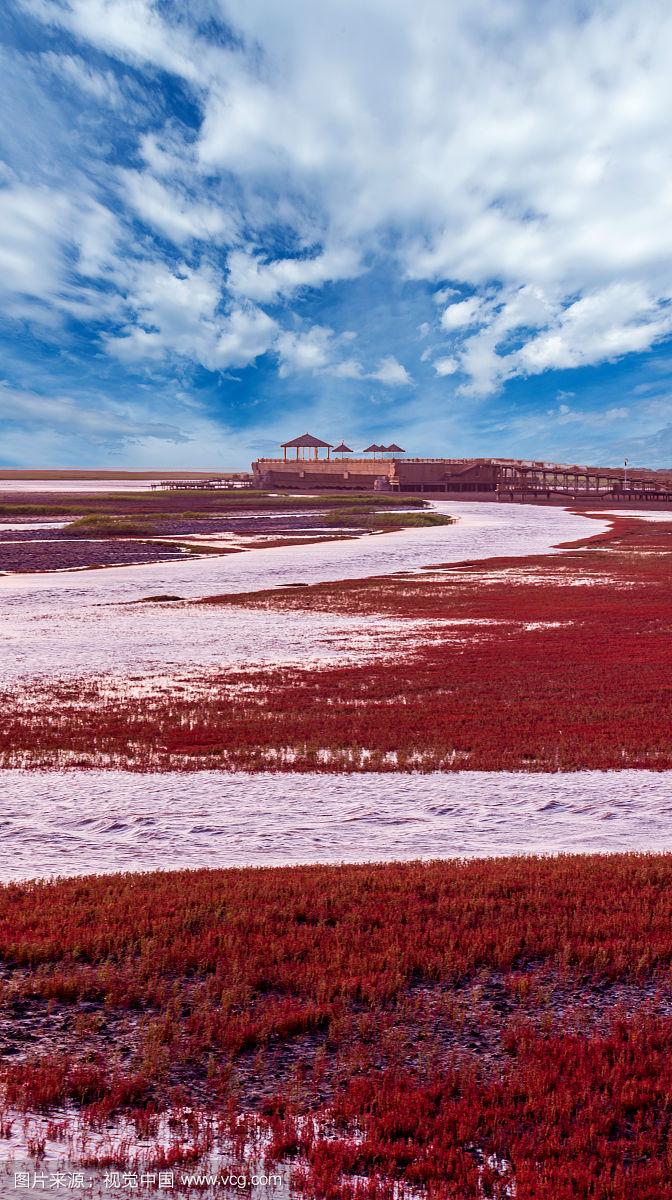
[[[8,0],[0,462],[672,464],[672,8]]]

